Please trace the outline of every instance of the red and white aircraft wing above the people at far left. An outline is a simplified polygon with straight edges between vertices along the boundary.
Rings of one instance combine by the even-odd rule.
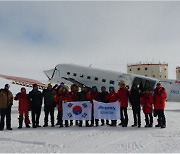
[[[6,80],[11,80],[13,84],[22,85],[25,87],[32,87],[33,84],[37,84],[39,88],[43,89],[46,87],[44,83],[41,83],[34,79],[22,78],[22,77],[15,77],[15,76],[8,76],[0,74],[1,78]]]

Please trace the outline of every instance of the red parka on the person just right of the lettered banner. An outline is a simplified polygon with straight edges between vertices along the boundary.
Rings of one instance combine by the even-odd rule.
[[[118,99],[121,103],[121,107],[128,107],[129,90],[126,88],[120,88],[117,92]]]

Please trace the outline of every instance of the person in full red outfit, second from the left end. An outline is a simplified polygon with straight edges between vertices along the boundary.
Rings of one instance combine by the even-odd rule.
[[[28,94],[26,94],[26,89],[24,87],[21,88],[21,92],[19,92],[18,94],[16,94],[14,100],[19,100],[19,129],[22,128],[23,125],[23,115],[25,116],[25,125],[26,128],[30,128],[29,124],[30,124],[30,120],[29,120],[29,114],[28,114],[28,110],[29,110],[29,97]]]

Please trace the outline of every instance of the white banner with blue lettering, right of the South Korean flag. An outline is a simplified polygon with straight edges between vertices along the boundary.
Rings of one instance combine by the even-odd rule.
[[[93,101],[94,119],[118,120],[120,119],[119,102],[102,103]]]

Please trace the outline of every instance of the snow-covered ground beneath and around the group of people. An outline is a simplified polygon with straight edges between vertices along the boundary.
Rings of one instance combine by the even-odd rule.
[[[5,81],[0,80],[0,86]],[[11,85],[15,93],[19,86]],[[57,111],[55,115],[57,114]],[[24,153],[99,153],[99,152],[180,152],[180,103],[168,102],[166,106],[167,128],[144,128],[144,115],[142,113],[142,127],[132,128],[132,110],[129,108],[129,126],[127,128],[100,126],[79,128],[23,128],[18,129],[17,102],[12,108],[13,131],[0,132],[0,152]],[[43,125],[44,112],[42,110],[41,122]],[[157,124],[154,118],[154,125]]]

